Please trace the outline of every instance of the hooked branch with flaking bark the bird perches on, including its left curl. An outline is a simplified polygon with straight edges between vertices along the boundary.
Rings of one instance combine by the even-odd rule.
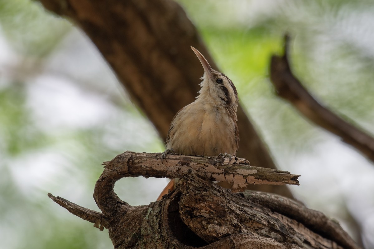
[[[122,177],[168,177],[180,178],[193,169],[212,181],[226,181],[232,185],[233,192],[244,191],[248,184],[299,185],[298,177],[287,171],[249,166],[243,158],[229,161],[203,157],[168,155],[165,165],[161,153],[136,153],[126,151],[110,162],[105,162],[105,170],[96,182],[93,194],[97,205],[104,214],[113,212],[117,203],[128,205],[119,199],[113,184]]]

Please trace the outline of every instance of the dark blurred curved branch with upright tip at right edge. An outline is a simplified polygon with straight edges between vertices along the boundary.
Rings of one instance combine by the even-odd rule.
[[[288,100],[310,121],[341,137],[345,143],[374,162],[374,138],[322,106],[292,74],[288,62],[288,44],[289,38],[286,36],[284,55],[273,55],[270,65],[270,80],[278,96]]]

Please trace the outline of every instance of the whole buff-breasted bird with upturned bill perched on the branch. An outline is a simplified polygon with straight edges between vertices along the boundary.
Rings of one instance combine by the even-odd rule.
[[[192,46],[191,49],[204,69],[201,88],[196,100],[171,121],[162,163],[170,153],[231,158],[239,147],[236,87],[229,77],[212,69],[197,49]],[[177,180],[171,180],[157,200],[173,190]]]

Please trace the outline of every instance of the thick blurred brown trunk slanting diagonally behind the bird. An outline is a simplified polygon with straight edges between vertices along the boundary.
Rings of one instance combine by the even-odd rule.
[[[199,90],[203,69],[190,46],[218,69],[196,28],[172,0],[39,1],[86,32],[164,141],[174,115],[193,102]],[[241,106],[237,116],[237,156],[249,159],[252,166],[276,169]],[[260,190],[292,197],[285,186],[261,185]]]

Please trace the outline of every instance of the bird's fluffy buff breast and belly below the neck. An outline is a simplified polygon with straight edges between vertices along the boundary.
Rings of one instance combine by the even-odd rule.
[[[194,103],[175,116],[167,148],[183,155],[218,156],[225,152],[235,155],[235,121],[226,113],[223,115],[224,110],[196,108]]]

